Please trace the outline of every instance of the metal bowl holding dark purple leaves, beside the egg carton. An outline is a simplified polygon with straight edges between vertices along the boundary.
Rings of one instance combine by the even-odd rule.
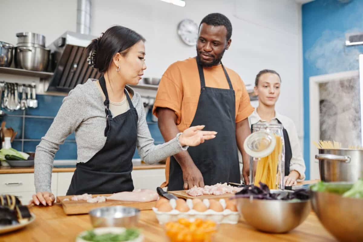
[[[271,193],[282,191],[270,190]],[[287,192],[285,190],[284,192]],[[269,233],[286,233],[300,225],[311,212],[310,200],[289,202],[236,198],[237,208],[245,221]]]

